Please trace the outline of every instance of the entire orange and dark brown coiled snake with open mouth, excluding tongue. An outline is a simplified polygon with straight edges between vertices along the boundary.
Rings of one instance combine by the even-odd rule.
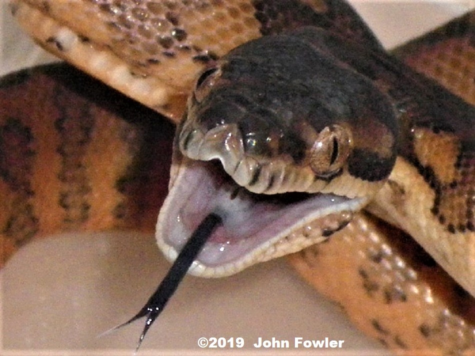
[[[167,258],[217,213],[223,226],[190,273],[223,277],[290,254],[388,347],[474,351],[473,13],[390,55],[342,0],[11,9],[41,46],[177,124],[156,225]],[[37,87],[51,80],[33,72]],[[32,85],[29,75],[2,86]],[[120,107],[142,116],[135,126],[115,103],[99,120],[100,105],[52,90],[61,100],[48,120],[24,102],[24,118],[2,114],[3,262],[59,229],[149,228],[166,189],[153,169],[167,131],[149,111]]]

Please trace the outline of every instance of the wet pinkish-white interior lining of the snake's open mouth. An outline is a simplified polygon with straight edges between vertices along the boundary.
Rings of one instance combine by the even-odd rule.
[[[318,209],[349,200],[332,194],[250,193],[215,161],[192,161],[167,199],[161,235],[177,251],[206,215],[214,212],[222,218],[197,258],[210,267],[237,261]]]

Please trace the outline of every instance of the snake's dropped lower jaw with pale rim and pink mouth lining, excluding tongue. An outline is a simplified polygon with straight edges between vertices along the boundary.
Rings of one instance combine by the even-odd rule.
[[[156,226],[164,255],[174,260],[208,214],[223,221],[191,265],[194,275],[231,275],[323,241],[367,202],[322,193],[255,194],[237,185],[216,160],[181,159]]]

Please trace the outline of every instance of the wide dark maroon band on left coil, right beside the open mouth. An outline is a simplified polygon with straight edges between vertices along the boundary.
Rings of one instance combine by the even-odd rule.
[[[114,97],[109,100],[117,102]],[[121,102],[116,112],[124,118],[119,140],[132,159],[115,179],[114,187],[121,197],[112,214],[119,226],[153,226],[168,191],[165,177],[171,164],[174,127],[132,100]]]

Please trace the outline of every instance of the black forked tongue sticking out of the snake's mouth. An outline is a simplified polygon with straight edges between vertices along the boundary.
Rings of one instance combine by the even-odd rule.
[[[175,292],[178,284],[180,283],[181,279],[183,279],[191,263],[193,263],[196,256],[201,251],[201,248],[211,235],[211,232],[220,224],[222,224],[222,219],[220,216],[216,215],[215,213],[208,214],[198,225],[188,241],[186,241],[185,245],[173,262],[173,265],[168,270],[168,273],[166,273],[166,276],[163,278],[155,292],[150,296],[140,311],[137,312],[137,314],[130,320],[125,321],[124,323],[112,329],[118,329],[119,327],[125,326],[140,317],[146,316],[147,319],[145,321],[145,326],[143,327],[142,334],[138,339],[135,351],[137,351],[140,347],[140,344],[142,343],[148,328],[163,310],[171,295]]]

